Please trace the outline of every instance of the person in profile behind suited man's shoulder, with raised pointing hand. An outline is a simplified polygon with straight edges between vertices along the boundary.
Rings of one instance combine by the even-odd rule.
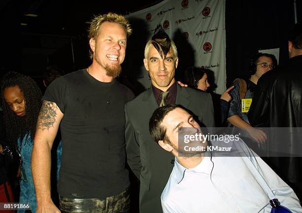
[[[207,71],[199,67],[189,67],[185,70],[183,74],[182,82],[189,87],[199,89],[204,92],[208,92],[210,84],[208,82]],[[229,92],[234,88],[234,86],[229,87],[220,97],[220,114],[221,114],[221,124],[223,124],[227,119],[227,112],[229,107],[229,102],[232,100]],[[216,113],[215,113],[216,114]],[[219,121],[216,120],[216,126]]]

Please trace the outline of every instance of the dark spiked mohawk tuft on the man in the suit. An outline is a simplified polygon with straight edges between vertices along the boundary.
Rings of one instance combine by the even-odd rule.
[[[164,32],[160,24],[157,25],[156,29],[154,30],[151,43],[161,58],[164,58],[168,54],[171,47],[171,39],[168,34]]]

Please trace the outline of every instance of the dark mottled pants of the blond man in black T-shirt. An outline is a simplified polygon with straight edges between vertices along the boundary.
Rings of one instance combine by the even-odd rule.
[[[60,197],[62,213],[129,213],[130,188],[105,199],[73,199]]]

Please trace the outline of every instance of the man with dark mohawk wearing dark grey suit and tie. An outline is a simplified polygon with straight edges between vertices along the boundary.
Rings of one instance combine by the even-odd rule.
[[[182,105],[201,124],[214,127],[211,96],[177,84],[174,76],[178,62],[175,43],[158,26],[145,47],[144,65],[151,87],[125,106],[127,161],[140,179],[141,213],[162,212],[160,195],[174,164],[173,155],[155,144],[149,134],[153,111],[168,104]]]

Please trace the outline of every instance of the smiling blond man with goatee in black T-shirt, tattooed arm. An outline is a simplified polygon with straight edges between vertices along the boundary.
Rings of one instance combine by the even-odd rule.
[[[125,58],[128,21],[108,13],[92,20],[92,64],[54,80],[43,96],[32,155],[38,213],[59,213],[50,198],[50,150],[59,125],[61,211],[129,212],[124,104],[132,92],[115,77]]]

